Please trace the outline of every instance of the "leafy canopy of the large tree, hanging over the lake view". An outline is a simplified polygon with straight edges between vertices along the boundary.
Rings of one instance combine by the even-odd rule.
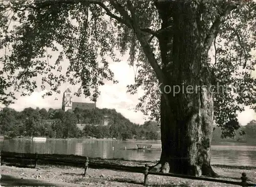
[[[118,62],[117,54],[129,53],[129,63],[138,72],[135,84],[129,85],[128,91],[134,94],[138,87],[142,87],[145,95],[136,108],[159,120],[160,92],[157,86],[161,80],[148,63],[140,39],[147,41],[147,48],[154,53],[155,61],[161,67],[158,36],[165,31],[161,30],[162,18],[156,6],[161,2],[164,1],[1,2],[1,102],[10,103],[10,98],[15,98],[15,91],[24,90],[23,95],[31,93],[37,87],[33,78],[38,75],[42,76],[42,89],[46,84],[51,87],[47,95],[60,92],[60,84],[69,82],[81,85],[75,93],[77,96],[83,93],[96,101],[98,87],[104,80],[117,82],[109,69],[110,61]],[[227,9],[230,10],[225,22],[214,33],[214,46],[211,46],[214,55],[209,53],[208,65],[214,75],[213,84],[227,87],[214,95],[215,122],[222,128],[224,136],[233,136],[239,125],[226,122],[237,122],[237,112],[243,111],[244,106],[256,111],[256,80],[251,76],[256,63],[256,4],[224,0],[193,2],[201,7],[202,38],[206,38],[214,23],[223,18]],[[138,26],[140,38],[131,21]],[[59,53],[54,63],[51,63],[50,51]],[[61,73],[65,59],[70,62],[66,76]],[[228,87],[230,85],[237,89],[236,93]],[[12,86],[14,90],[7,91]]]

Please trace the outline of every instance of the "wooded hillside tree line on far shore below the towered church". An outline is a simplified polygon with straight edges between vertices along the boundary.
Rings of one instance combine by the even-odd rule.
[[[109,124],[103,126],[104,116]],[[54,120],[52,124],[44,123]],[[79,129],[76,124],[86,124]],[[143,125],[130,122],[115,109],[81,110],[74,112],[61,109],[25,108],[16,111],[4,108],[0,112],[0,133],[9,137],[45,136],[50,138],[117,138],[117,139],[160,139],[157,122],[146,121]]]

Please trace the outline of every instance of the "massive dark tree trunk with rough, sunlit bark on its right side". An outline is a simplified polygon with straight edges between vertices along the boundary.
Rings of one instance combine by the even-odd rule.
[[[176,1],[172,6],[171,1],[163,2],[157,5],[162,29],[174,25],[159,39],[162,70],[172,91],[161,96],[162,153],[152,171],[216,176],[210,166],[214,105],[207,90],[210,75],[205,71],[199,10],[190,1]],[[176,91],[180,87],[176,94],[175,85]],[[189,85],[193,90],[186,90]]]

